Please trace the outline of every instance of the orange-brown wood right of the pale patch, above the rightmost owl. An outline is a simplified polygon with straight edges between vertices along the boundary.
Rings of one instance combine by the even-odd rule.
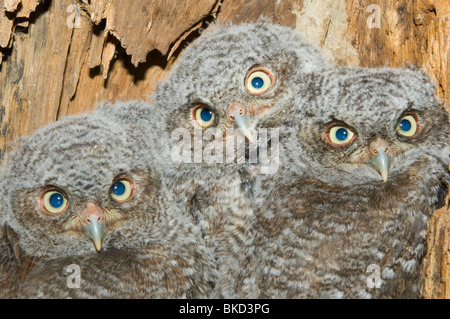
[[[360,0],[347,2],[349,33],[358,48],[360,64],[423,68],[436,81],[438,95],[449,105],[450,1],[364,2],[363,8]],[[367,19],[377,14],[376,6],[380,8],[379,27],[369,28]]]

